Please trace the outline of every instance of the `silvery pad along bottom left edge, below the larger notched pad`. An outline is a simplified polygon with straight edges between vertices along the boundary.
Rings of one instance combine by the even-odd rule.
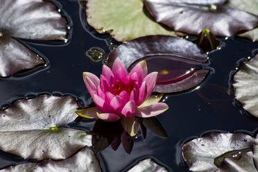
[[[76,153],[73,157],[67,160],[54,162],[46,160],[45,162],[21,164],[17,166],[10,166],[0,172],[100,172],[101,166],[96,159],[96,156],[90,148],[83,148],[80,152]]]

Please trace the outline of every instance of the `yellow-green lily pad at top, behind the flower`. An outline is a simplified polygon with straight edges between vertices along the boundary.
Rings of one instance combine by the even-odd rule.
[[[123,42],[145,35],[175,35],[157,24],[144,11],[142,0],[89,0],[87,22],[98,33],[110,33]]]

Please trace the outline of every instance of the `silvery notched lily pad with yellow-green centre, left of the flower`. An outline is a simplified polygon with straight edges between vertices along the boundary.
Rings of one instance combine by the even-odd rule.
[[[40,95],[15,101],[0,111],[0,149],[26,159],[64,160],[92,146],[92,135],[58,128],[78,117],[77,108],[71,96]]]

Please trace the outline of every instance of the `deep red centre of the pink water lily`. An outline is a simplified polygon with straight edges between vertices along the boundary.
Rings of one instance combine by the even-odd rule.
[[[128,94],[132,92],[132,89],[134,88],[134,83],[132,80],[128,84],[121,82],[121,80],[117,80],[114,82],[114,85],[112,87],[112,94],[119,95],[121,92],[126,91]]]

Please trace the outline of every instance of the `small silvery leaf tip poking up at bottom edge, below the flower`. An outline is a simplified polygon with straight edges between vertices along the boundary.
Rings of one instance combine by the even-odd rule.
[[[133,166],[132,169],[128,170],[128,172],[145,172],[145,171],[168,172],[168,170],[164,166],[157,164],[150,158],[147,158],[145,160],[138,162],[137,165]]]

